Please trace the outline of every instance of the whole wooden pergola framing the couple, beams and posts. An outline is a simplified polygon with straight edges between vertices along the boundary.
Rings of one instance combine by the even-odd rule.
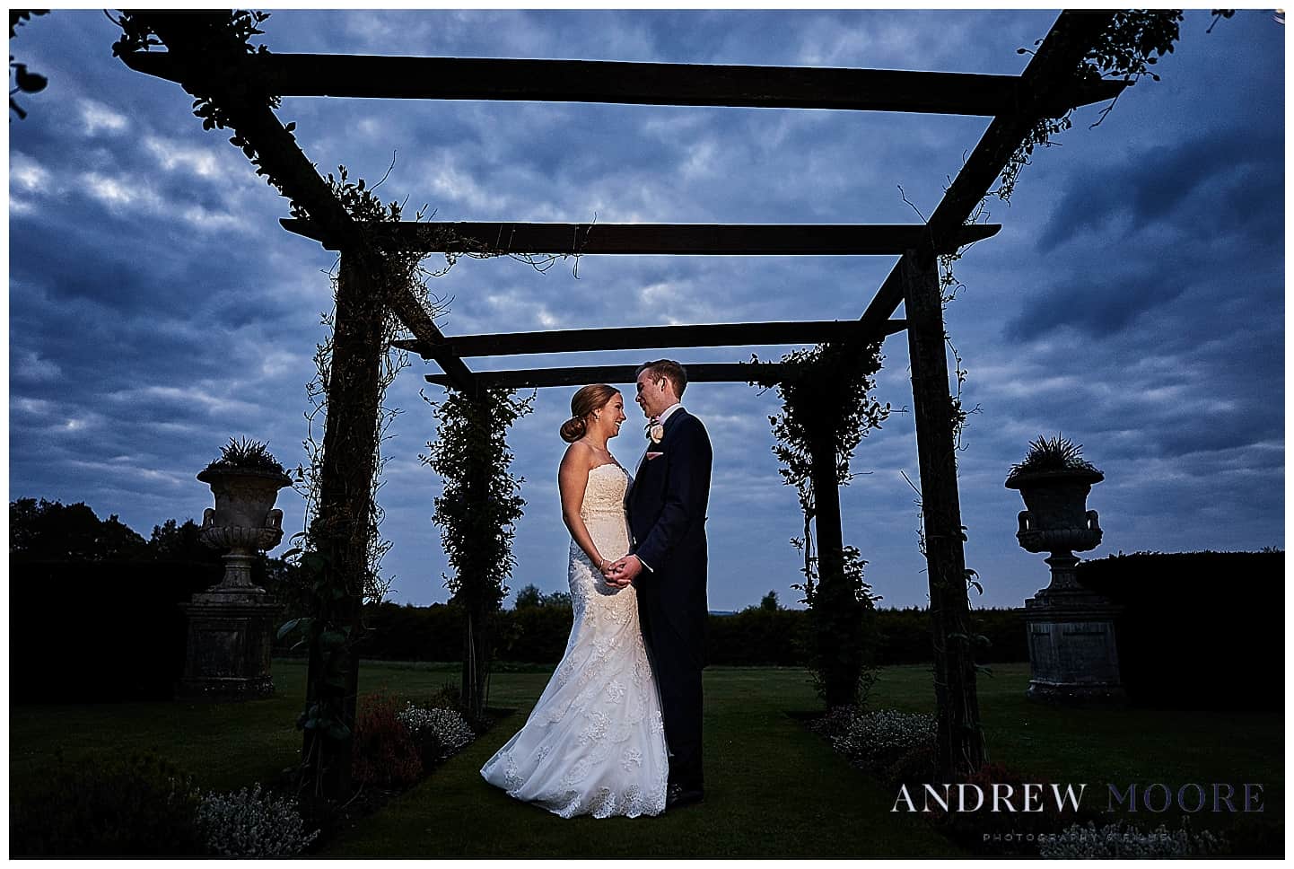
[[[333,521],[334,556],[360,570],[356,517],[367,515],[377,446],[375,396],[367,383],[387,350],[382,306],[413,334],[400,346],[433,360],[432,383],[468,395],[480,389],[628,383],[634,367],[521,368],[474,372],[465,360],[568,351],[660,347],[740,347],[880,342],[906,332],[912,372],[921,509],[936,648],[938,759],[945,773],[964,773],[983,760],[976,671],[965,624],[965,559],[958,496],[952,399],[939,293],[941,254],[989,238],[1000,227],[968,223],[977,205],[1040,119],[1110,100],[1123,82],[1086,82],[1083,57],[1112,21],[1109,12],[1064,12],[1018,75],[972,75],[867,69],[806,69],[691,63],[625,63],[551,60],[377,57],[349,54],[214,53],[210,35],[228,13],[136,13],[168,49],[123,56],[133,70],[181,83],[221,106],[250,142],[263,171],[309,220],[283,220],[290,232],[342,254],[334,325],[333,389],[325,430],[320,514]],[[551,223],[358,224],[333,196],[290,131],[263,98],[277,96],[415,100],[506,100],[675,106],[747,106],[848,111],[907,111],[991,118],[987,130],[924,224],[732,225]],[[444,232],[448,231],[448,232]],[[439,240],[439,241],[437,241]],[[845,321],[669,325],[445,335],[409,286],[378,280],[391,251],[553,255],[889,255],[889,276],[857,319]],[[894,319],[899,304],[905,317]],[[776,381],[776,364],[687,364],[694,382]],[[831,517],[819,514],[819,530]],[[836,513],[839,545],[839,504]],[[826,548],[829,540],[820,537]],[[358,561],[357,561],[358,559]],[[360,600],[351,601],[358,616]],[[318,662],[312,654],[312,670]],[[349,720],[357,670],[347,688]],[[313,685],[313,680],[311,683]],[[308,698],[309,701],[311,698]],[[307,756],[311,736],[307,734]],[[349,745],[342,746],[349,751]],[[344,764],[348,765],[348,764]],[[344,784],[345,773],[340,772]],[[942,781],[950,781],[943,778]],[[340,785],[338,785],[340,786]]]

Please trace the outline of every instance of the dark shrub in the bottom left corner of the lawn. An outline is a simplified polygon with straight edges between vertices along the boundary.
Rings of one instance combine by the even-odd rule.
[[[192,780],[151,754],[57,768],[10,807],[10,856],[202,853]]]

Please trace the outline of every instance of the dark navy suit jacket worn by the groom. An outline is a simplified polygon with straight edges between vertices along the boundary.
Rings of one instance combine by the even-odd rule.
[[[701,421],[683,408],[665,421],[665,436],[648,447],[625,493],[634,554],[651,570],[634,583],[648,644],[682,642],[704,662],[708,606],[705,510],[713,449]]]

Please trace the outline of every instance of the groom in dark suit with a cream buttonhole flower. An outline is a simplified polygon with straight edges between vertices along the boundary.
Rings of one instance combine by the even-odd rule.
[[[663,359],[638,369],[647,416],[647,453],[625,493],[633,553],[608,571],[607,583],[638,589],[638,619],[660,688],[669,743],[666,808],[699,803],[701,774],[701,667],[705,666],[705,506],[710,495],[709,435],[678,400],[687,372]]]

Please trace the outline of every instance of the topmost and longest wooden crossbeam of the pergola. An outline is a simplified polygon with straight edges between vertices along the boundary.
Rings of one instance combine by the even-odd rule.
[[[141,73],[179,80],[162,53],[131,54]],[[1029,101],[1014,75],[713,63],[255,54],[245,65],[278,96],[525,100],[765,109],[1000,115]],[[1115,97],[1123,82],[1068,83],[1055,114]]]

